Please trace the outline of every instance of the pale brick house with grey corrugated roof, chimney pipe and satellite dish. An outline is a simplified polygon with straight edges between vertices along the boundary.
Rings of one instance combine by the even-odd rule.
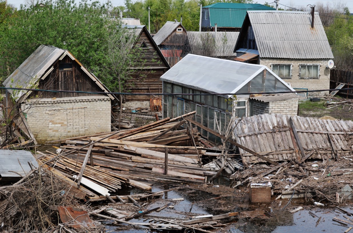
[[[333,54],[318,12],[248,11],[234,52],[236,61],[266,65],[296,90],[330,87]]]

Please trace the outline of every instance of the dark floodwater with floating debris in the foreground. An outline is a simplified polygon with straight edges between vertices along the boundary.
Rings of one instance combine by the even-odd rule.
[[[158,192],[166,189],[170,189],[179,185],[153,185],[152,191]],[[127,191],[127,193],[119,193],[119,195],[132,195],[141,193],[140,190],[132,189]],[[215,194],[207,193],[204,191],[194,190],[187,185],[178,188],[177,190],[168,191],[163,195],[162,199],[157,199],[156,201],[150,203],[146,209],[151,209],[155,207],[160,207],[169,201],[163,199],[175,199],[175,198],[184,198],[183,201],[178,201],[175,203],[174,208],[166,208],[161,212],[152,212],[148,214],[150,219],[160,217],[168,217],[172,218],[190,218],[190,214],[197,215],[207,215],[207,214],[223,214],[226,212],[220,212],[219,210],[214,210],[212,207],[208,205],[204,205],[203,200],[208,200],[213,197],[217,197]],[[234,206],[234,212],[245,210],[247,213],[263,213],[259,215],[254,215],[255,218],[246,218],[242,215],[229,221],[223,221],[223,223],[227,223],[228,226],[221,229],[212,230],[214,232],[228,232],[228,233],[283,233],[283,232],[291,232],[291,233],[316,233],[316,232],[344,232],[348,227],[353,227],[352,225],[347,224],[348,226],[342,226],[337,222],[334,222],[333,218],[343,219],[349,222],[345,218],[345,214],[339,212],[339,210],[334,209],[333,207],[315,207],[315,206],[305,206],[303,210],[296,212],[294,214],[289,213],[289,210],[293,210],[300,206],[303,202],[297,202],[294,199],[292,203],[288,205],[286,210],[282,210],[288,200],[282,200],[282,207],[278,207],[278,202],[273,202],[270,204],[261,204],[261,205],[253,205],[250,204],[247,208],[241,207],[239,208],[236,201],[232,198],[229,198],[229,205]],[[203,204],[201,204],[203,203]],[[292,206],[293,204],[293,206]],[[342,209],[347,210],[348,212],[353,212],[352,205],[341,206]],[[317,217],[312,217],[309,214],[309,211],[317,215]],[[321,217],[318,222],[319,217]],[[353,218],[353,216],[352,216]],[[142,216],[140,219],[132,219],[130,222],[145,222],[148,217]],[[317,223],[318,222],[318,223]],[[108,231],[110,232],[118,232],[118,233],[148,233],[152,232],[149,229],[132,229],[128,231],[119,231],[118,227],[108,227]],[[157,231],[155,231],[157,232]],[[161,232],[161,231],[158,231]],[[173,231],[178,232],[178,231]],[[353,232],[353,230],[352,230]]]

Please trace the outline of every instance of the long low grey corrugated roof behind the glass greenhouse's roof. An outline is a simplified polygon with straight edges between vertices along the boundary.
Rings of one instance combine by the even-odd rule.
[[[204,47],[207,45],[207,38],[214,39],[215,48],[211,52],[213,57],[236,56],[233,52],[234,45],[237,43],[239,32],[187,32],[187,38],[190,44],[191,53],[196,55],[205,55]]]

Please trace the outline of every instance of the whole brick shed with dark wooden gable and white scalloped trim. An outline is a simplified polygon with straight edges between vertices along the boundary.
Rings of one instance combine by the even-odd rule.
[[[110,131],[115,97],[103,94],[109,90],[67,50],[40,45],[3,85],[43,90],[6,94],[7,103],[20,106],[38,143]]]

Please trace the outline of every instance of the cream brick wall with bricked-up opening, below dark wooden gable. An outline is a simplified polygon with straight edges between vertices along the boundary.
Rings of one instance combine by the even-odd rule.
[[[21,108],[38,143],[111,129],[108,96],[29,99]]]

